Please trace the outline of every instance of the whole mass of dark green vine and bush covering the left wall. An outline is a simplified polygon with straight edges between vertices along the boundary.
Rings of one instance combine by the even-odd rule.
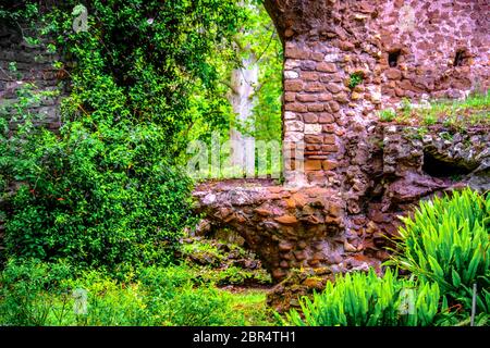
[[[176,161],[189,127],[207,122],[193,95],[212,95],[209,59],[242,12],[218,0],[91,1],[88,30],[75,33],[75,4],[36,18],[47,49],[71,62],[56,64],[71,77],[60,134],[33,126],[36,92],[20,89],[0,112],[0,185],[22,183],[7,214],[7,253],[114,272],[166,264],[193,222],[192,183]],[[13,136],[11,120],[20,122]]]

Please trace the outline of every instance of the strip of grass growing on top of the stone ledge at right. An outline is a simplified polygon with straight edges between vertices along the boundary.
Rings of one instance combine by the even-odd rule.
[[[385,109],[378,115],[382,122],[407,125],[490,126],[490,92],[470,95],[465,100],[437,100],[427,107],[414,107],[408,99],[403,99],[396,111]]]

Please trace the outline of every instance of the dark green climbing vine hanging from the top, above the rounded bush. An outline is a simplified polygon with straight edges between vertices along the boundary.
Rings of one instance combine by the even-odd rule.
[[[87,8],[88,30],[74,33],[75,4],[68,1],[46,17],[57,45],[76,62],[70,117],[89,127],[156,123],[169,151],[182,149],[188,128],[206,116],[191,112],[193,95],[212,97],[218,73],[210,59],[241,25],[240,8],[218,0],[97,0]]]

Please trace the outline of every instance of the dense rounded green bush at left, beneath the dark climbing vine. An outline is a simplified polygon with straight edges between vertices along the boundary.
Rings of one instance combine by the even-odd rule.
[[[69,259],[117,270],[171,260],[189,223],[192,183],[166,160],[157,125],[73,122],[33,130],[7,223],[11,257]],[[28,165],[26,165],[26,163]]]

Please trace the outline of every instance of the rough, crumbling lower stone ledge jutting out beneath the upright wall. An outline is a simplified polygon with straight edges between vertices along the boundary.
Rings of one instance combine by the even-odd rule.
[[[348,145],[364,149],[350,153],[366,178],[363,189],[354,184],[355,200],[351,191],[318,185],[201,184],[194,195],[206,220],[197,233],[238,233],[274,281],[292,269],[316,274],[380,270],[389,257],[389,238],[396,235],[397,216],[409,213],[420,199],[467,186],[490,189],[489,129],[422,130],[380,124],[366,137],[369,141],[359,144],[366,138],[356,138]],[[350,177],[347,173],[346,181]]]

